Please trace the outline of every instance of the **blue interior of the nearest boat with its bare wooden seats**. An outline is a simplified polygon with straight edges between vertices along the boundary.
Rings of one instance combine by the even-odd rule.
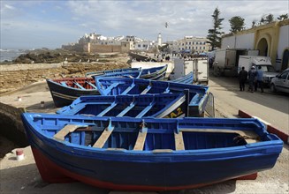
[[[64,118],[34,118],[34,122],[39,127],[42,126],[42,133],[49,138],[69,142],[75,146],[103,149],[172,152],[245,146],[247,143],[260,140],[254,127],[248,126],[246,130],[241,130],[242,127],[244,128],[244,124],[241,123],[239,125],[236,123],[199,125],[183,123],[181,125],[186,128],[180,128],[181,125],[178,122],[172,122],[172,119],[164,119],[167,121],[164,123],[144,123],[141,119],[138,120],[139,123],[121,119],[118,122],[111,122],[110,118],[104,119],[104,117],[102,120],[90,121],[91,123],[89,121],[80,123],[77,120],[75,118],[68,122]],[[191,126],[190,129],[187,128],[188,126]]]

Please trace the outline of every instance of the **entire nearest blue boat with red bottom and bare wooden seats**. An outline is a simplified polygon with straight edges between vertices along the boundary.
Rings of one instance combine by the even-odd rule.
[[[24,113],[48,183],[108,190],[185,190],[273,168],[283,142],[254,119]]]

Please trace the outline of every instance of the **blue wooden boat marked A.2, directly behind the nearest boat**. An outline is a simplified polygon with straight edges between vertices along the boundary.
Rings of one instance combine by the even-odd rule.
[[[117,96],[81,96],[71,105],[57,110],[57,114],[73,116],[187,116],[186,93],[161,93]]]

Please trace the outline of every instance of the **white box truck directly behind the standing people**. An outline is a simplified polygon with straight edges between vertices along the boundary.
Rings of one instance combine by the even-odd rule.
[[[270,56],[239,56],[239,71],[242,67],[245,67],[246,71],[250,71],[252,66],[255,66],[255,70],[258,70],[261,66],[263,71],[262,81],[265,86],[269,86],[270,80],[278,75],[271,63]]]

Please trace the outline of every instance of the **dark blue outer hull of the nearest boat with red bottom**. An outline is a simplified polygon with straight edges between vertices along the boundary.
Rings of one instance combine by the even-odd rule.
[[[62,122],[67,118],[62,117]],[[84,118],[74,118],[73,122]],[[89,118],[90,122],[94,119]],[[270,136],[272,141],[269,144],[199,151],[148,152],[75,146],[43,137],[28,120],[27,115],[23,116],[37,167],[43,180],[49,183],[77,180],[109,190],[184,190],[273,168],[282,150],[282,141],[275,136]],[[171,119],[163,120],[171,122]],[[163,120],[156,122],[162,125]],[[142,120],[133,121],[138,123]],[[151,121],[144,120],[146,123]],[[184,119],[188,125],[192,121]],[[182,122],[179,120],[179,123]],[[207,121],[207,125],[213,122]],[[248,124],[250,127],[252,123]],[[164,139],[164,142],[167,140]]]

